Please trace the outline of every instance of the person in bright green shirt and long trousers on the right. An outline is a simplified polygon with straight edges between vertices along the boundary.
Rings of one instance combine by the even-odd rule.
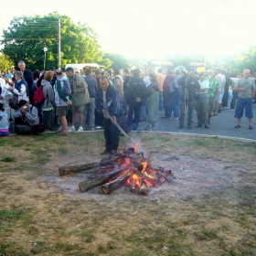
[[[214,102],[219,93],[219,80],[216,78],[217,70],[211,70],[211,76],[208,77],[208,124],[210,124],[210,118],[213,114]]]

